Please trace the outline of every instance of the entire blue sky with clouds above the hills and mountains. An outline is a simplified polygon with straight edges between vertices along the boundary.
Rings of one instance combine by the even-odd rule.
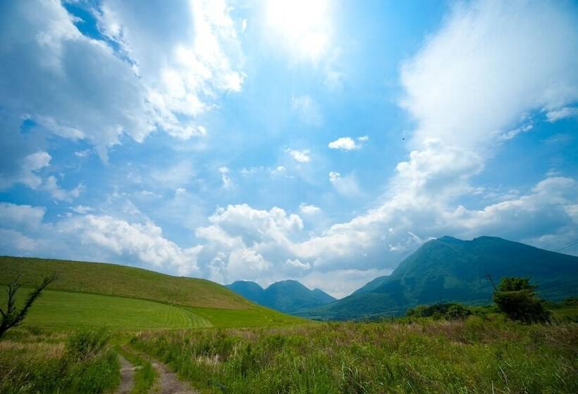
[[[563,0],[2,1],[0,254],[338,298],[444,235],[578,255],[577,53]]]

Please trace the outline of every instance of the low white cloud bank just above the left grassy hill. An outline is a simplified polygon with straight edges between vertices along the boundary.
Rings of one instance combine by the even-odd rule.
[[[88,207],[73,208],[78,215],[58,222],[44,222],[43,207],[0,203],[2,253],[35,251],[44,256],[125,262],[181,275],[199,275],[197,255],[201,246],[181,248],[165,238],[150,220],[128,222],[109,215],[83,214]]]

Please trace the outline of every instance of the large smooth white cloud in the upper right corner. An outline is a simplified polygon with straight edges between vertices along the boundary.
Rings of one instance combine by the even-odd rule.
[[[577,101],[576,24],[560,2],[454,6],[402,68],[402,106],[418,123],[414,145],[434,137],[481,151],[522,114]]]

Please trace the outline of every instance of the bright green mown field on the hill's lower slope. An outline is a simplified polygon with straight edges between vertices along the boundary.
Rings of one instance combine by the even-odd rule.
[[[0,286],[5,293],[6,286]],[[30,289],[21,288],[18,303]],[[1,298],[2,303],[5,302]],[[264,307],[228,310],[180,307],[135,298],[66,291],[44,291],[30,308],[23,326],[57,330],[104,326],[113,331],[185,329],[202,327],[283,326],[305,320]]]

